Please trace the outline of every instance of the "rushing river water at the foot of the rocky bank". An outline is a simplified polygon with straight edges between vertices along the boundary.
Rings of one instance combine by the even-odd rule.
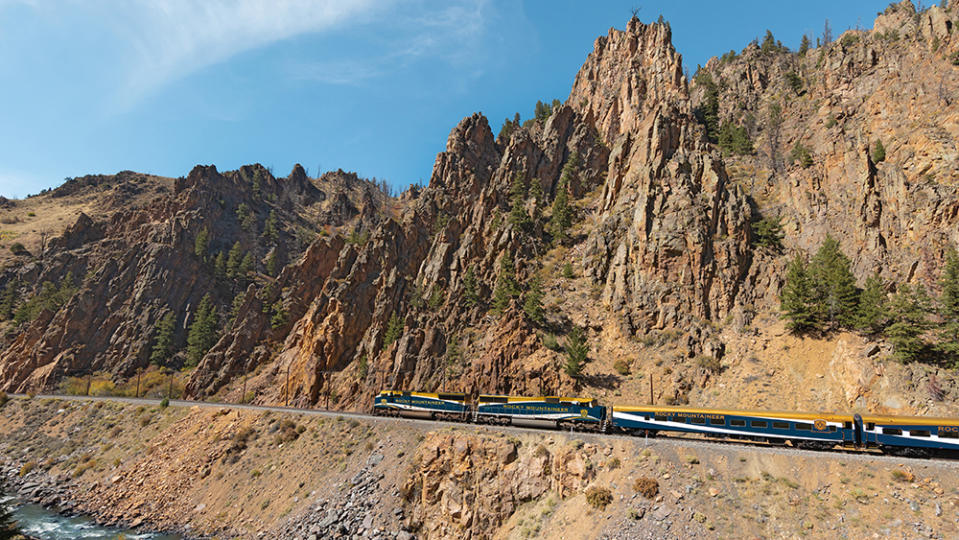
[[[0,504],[14,506],[13,517],[20,530],[42,540],[180,540],[179,536],[158,533],[140,533],[113,527],[102,527],[83,516],[66,517],[35,504],[16,504],[16,500],[6,498]]]

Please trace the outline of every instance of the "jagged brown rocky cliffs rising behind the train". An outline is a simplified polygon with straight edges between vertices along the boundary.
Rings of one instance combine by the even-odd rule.
[[[169,193],[110,219],[88,213],[42,259],[21,255],[3,272],[0,286],[24,298],[68,272],[76,290],[7,323],[0,380],[26,389],[91,370],[129,377],[167,312],[184,347],[210,294],[219,330],[190,372],[197,397],[363,408],[383,387],[618,401],[652,392],[954,413],[943,399],[959,395],[953,373],[887,366],[889,347],[873,337],[788,336],[778,294],[788,256],[826,233],[860,282],[879,271],[936,290],[959,241],[957,19],[955,5],[920,13],[904,2],[872,30],[802,54],[750,44],[689,81],[669,24],[633,18],[596,40],[547,117],[500,137],[483,116],[465,118],[429,185],[398,199],[299,168],[285,179],[254,166],[157,180]],[[717,144],[710,107],[753,150]],[[571,226],[558,234],[562,200]],[[757,243],[769,219],[783,225],[783,249]],[[210,240],[198,255],[201,231]],[[234,245],[252,268],[223,279],[213,254]],[[574,326],[591,348],[578,377],[559,352]],[[797,390],[808,378],[821,380]]]

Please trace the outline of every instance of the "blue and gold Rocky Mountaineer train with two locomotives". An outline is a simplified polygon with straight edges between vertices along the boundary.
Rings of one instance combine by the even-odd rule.
[[[591,398],[480,394],[470,399],[465,393],[405,390],[383,390],[374,396],[373,414],[647,437],[692,434],[814,450],[878,449],[907,456],[959,454],[959,418],[607,406]]]

